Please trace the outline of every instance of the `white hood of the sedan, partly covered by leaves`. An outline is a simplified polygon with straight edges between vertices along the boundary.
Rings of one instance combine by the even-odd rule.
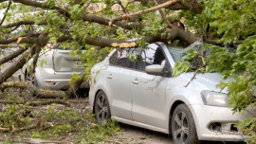
[[[194,73],[186,73],[181,75],[183,79],[186,79],[187,81],[191,81]],[[222,79],[223,75],[219,73],[204,73],[204,74],[196,74],[195,79],[192,80],[193,82],[199,82],[202,85],[207,86],[210,88],[212,91],[220,92],[221,89],[218,88],[216,85],[219,84]],[[231,81],[231,79],[225,80],[225,82]],[[224,90],[221,91],[222,93],[227,93],[227,89],[225,88]]]

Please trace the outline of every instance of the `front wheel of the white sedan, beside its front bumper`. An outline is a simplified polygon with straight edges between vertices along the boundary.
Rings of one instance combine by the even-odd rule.
[[[172,117],[174,144],[198,144],[192,113],[186,104],[178,105]]]

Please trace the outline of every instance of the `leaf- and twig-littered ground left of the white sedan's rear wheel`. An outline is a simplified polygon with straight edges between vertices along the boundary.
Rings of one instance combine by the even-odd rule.
[[[53,137],[58,139],[61,136],[70,135],[72,139],[67,139],[69,141],[71,140],[70,142],[98,143],[109,140],[109,137],[119,132],[119,125],[116,121],[104,122],[102,125],[97,124],[92,111],[83,110],[83,103],[74,103],[71,107],[63,107],[55,103],[33,107],[28,104],[29,100],[34,98],[27,92],[22,92],[21,96],[17,94],[12,95],[10,92],[12,94],[19,93],[14,89],[8,89],[0,94],[0,98],[9,100],[18,99],[21,101],[27,99],[26,104],[1,104],[0,127],[8,128],[11,130],[11,133],[15,133],[16,135],[29,135],[31,138],[41,139]],[[36,100],[40,101],[41,99]],[[33,129],[30,129],[30,127],[33,127]],[[25,129],[15,131],[20,128]],[[1,138],[3,138],[4,143],[11,143],[15,139],[15,135],[14,138]]]

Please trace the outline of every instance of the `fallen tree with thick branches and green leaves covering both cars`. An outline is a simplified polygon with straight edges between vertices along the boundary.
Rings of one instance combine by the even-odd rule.
[[[20,56],[19,61],[0,74],[1,88],[26,88],[46,98],[68,99],[82,81],[88,81],[94,63],[101,62],[103,54],[109,52],[101,50],[144,47],[158,41],[173,45],[200,41],[208,43],[204,48],[212,50],[204,59],[204,66],[197,67],[196,72],[217,71],[224,78],[236,80],[220,86],[228,87],[233,110],[243,111],[251,103],[255,105],[251,99],[256,99],[253,90],[255,3],[248,0],[0,0],[0,9],[5,11],[0,21],[0,49],[20,46],[0,59],[4,64]],[[21,81],[6,82],[29,59],[36,65],[41,49],[48,43],[72,49],[86,63],[79,81],[71,82],[66,91],[46,91]],[[228,46],[234,47],[235,52],[230,52]],[[79,47],[85,47],[86,52],[77,54]],[[188,71],[194,71],[187,66]],[[179,69],[176,71],[179,73]]]

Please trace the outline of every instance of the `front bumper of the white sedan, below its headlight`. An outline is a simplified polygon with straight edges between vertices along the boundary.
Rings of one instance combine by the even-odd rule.
[[[243,141],[249,137],[239,132],[239,129],[233,131],[232,126],[240,119],[248,117],[250,110],[241,115],[232,114],[233,112],[228,107],[189,105],[189,108],[192,111],[199,140]],[[212,123],[219,123],[220,129],[212,130]]]

